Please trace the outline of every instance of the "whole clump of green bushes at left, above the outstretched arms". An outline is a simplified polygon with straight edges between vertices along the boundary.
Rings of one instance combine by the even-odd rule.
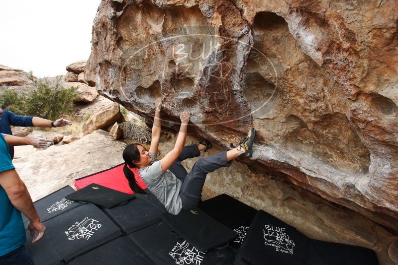
[[[47,79],[33,82],[32,90],[27,94],[18,95],[17,92],[2,88],[0,104],[12,112],[21,115],[37,116],[48,120],[56,120],[62,114],[71,113],[77,97],[77,87],[64,89],[61,80],[54,83]]]

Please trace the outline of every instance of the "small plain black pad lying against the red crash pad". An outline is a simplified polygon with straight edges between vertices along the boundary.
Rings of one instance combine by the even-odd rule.
[[[135,195],[122,193],[93,183],[65,196],[65,198],[76,201],[91,202],[105,208],[112,208],[134,199]]]

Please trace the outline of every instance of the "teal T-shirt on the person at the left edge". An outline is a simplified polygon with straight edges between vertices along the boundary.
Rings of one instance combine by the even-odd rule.
[[[0,133],[0,172],[14,169],[8,145]],[[21,212],[12,206],[0,186],[0,257],[16,250],[26,242]]]

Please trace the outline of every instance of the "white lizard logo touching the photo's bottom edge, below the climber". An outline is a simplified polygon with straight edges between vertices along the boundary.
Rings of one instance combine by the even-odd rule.
[[[178,265],[200,265],[204,258],[204,252],[199,251],[197,248],[190,246],[190,243],[184,241],[177,243],[171,250],[169,255],[175,260]]]

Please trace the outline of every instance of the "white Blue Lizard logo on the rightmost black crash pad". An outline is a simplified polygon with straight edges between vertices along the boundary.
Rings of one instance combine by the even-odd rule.
[[[266,224],[263,232],[266,246],[273,246],[277,252],[293,255],[296,245],[286,234],[285,228]]]

